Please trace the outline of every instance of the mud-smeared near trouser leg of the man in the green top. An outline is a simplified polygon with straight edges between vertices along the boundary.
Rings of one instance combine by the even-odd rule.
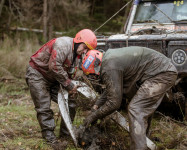
[[[174,85],[175,72],[160,73],[142,83],[128,106],[131,150],[146,150],[148,120],[160,105],[166,92]]]

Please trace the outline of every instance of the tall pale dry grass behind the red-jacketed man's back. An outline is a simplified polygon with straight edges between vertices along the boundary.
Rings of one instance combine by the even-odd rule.
[[[6,79],[24,78],[30,56],[40,45],[36,37],[33,39],[6,38],[0,41],[0,77]]]

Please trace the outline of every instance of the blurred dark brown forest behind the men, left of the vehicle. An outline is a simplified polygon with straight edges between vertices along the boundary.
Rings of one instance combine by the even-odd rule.
[[[127,2],[128,0],[0,0],[1,70],[6,69],[16,77],[23,77],[22,68],[25,67],[21,65],[22,61],[26,64],[29,60],[25,56],[30,56],[52,38],[74,37],[84,28],[94,31]],[[131,4],[100,28],[96,35],[123,33]],[[15,58],[16,54],[18,58],[11,59],[13,62],[10,62],[8,57],[14,55]]]

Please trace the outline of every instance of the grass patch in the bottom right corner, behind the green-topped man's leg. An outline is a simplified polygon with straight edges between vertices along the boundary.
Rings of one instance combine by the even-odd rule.
[[[160,149],[183,150],[187,148],[187,126],[175,123],[167,117],[154,119],[153,122],[151,138],[159,139],[155,143]]]

